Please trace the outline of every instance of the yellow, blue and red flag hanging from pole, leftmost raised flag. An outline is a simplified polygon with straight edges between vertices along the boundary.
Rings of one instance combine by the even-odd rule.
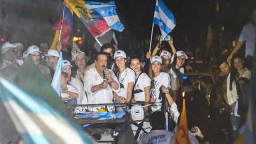
[[[58,22],[55,24],[53,29],[57,30],[54,41],[52,43],[51,49],[56,49],[56,42],[59,40],[60,37],[60,42],[62,45],[62,49],[65,47],[65,45],[68,42],[68,39],[71,36],[72,29],[73,29],[73,10],[69,9],[69,5],[67,4],[68,0],[65,0],[62,6],[62,10],[60,12],[60,19]],[[62,26],[62,27],[61,27]],[[60,34],[60,29],[61,29],[61,34]]]

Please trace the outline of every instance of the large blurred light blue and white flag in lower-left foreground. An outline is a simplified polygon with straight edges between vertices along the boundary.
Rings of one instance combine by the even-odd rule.
[[[94,143],[69,117],[2,77],[0,98],[24,143]]]

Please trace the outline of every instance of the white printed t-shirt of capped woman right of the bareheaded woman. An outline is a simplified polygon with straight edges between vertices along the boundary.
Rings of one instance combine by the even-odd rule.
[[[157,77],[154,77],[154,80],[155,80],[155,84],[154,84],[153,89],[151,87],[150,97],[153,98],[154,100],[156,100],[156,102],[162,101],[162,99],[159,100],[159,94],[160,94],[159,88],[162,85],[164,85],[166,88],[171,87],[170,86],[170,76],[167,73],[161,72],[160,75],[158,75]],[[161,106],[162,106],[162,103],[157,103],[157,108],[152,107],[152,111],[160,110]]]

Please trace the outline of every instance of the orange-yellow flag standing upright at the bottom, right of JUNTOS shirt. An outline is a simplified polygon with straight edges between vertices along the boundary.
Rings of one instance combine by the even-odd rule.
[[[175,144],[189,144],[185,99],[183,99],[183,109],[180,117],[180,124],[175,137]]]

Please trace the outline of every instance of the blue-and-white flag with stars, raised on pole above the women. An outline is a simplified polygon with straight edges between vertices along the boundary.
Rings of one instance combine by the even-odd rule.
[[[167,9],[162,0],[156,1],[156,9],[154,15],[154,21],[156,25],[160,27],[161,33],[166,40],[168,34],[176,26],[176,20],[172,12]]]

